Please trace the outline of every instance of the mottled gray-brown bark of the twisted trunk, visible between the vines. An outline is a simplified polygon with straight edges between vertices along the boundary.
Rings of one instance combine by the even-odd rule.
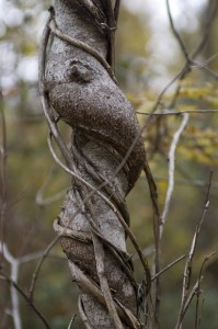
[[[56,24],[62,33],[84,42],[106,59],[108,38],[79,2],[56,0]],[[104,12],[101,1],[91,2]],[[114,177],[117,166],[139,134],[130,103],[95,57],[57,36],[54,36],[47,56],[46,89],[53,109],[73,128],[71,155],[77,172],[94,188],[107,182],[102,193],[128,220],[125,196],[134,186],[145,161],[144,144],[138,138],[123,169]],[[72,277],[82,293],[80,313],[88,318],[85,326],[115,328],[106,306],[93,296],[82,275],[101,287],[101,271],[97,270],[101,260],[96,259],[95,252],[101,239],[93,242],[93,228],[126,254],[125,229],[116,212],[100,195],[92,195],[84,204],[90,192],[72,179],[58,225],[88,238],[73,239],[72,236],[64,235],[61,246]],[[137,317],[135,286],[112,248],[103,242],[100,245],[100,254],[104,258],[102,276],[108,282],[113,299],[118,299]],[[128,262],[127,266],[130,269]],[[134,328],[125,324],[124,317],[122,322],[124,327]]]

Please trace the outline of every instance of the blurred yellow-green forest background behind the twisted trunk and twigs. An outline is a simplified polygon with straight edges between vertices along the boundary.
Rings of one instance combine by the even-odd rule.
[[[188,54],[200,42],[217,0],[173,0],[172,18]],[[152,3],[151,3],[152,2]],[[58,168],[47,147],[47,125],[37,87],[37,50],[50,1],[0,0],[0,148],[1,226],[7,243],[0,254],[0,328],[14,328],[9,284],[15,280],[28,295],[38,258],[55,237],[53,222],[60,212],[69,177]],[[161,265],[185,254],[199,222],[210,171],[210,205],[202,226],[193,262],[193,282],[207,256],[218,250],[218,15],[206,36],[196,65],[167,90],[158,112],[194,111],[175,151],[174,191],[161,240]],[[160,92],[184,67],[184,53],[172,33],[163,0],[124,0],[117,31],[116,76],[142,124]],[[177,91],[176,99],[174,98]],[[207,111],[202,111],[207,110]],[[213,110],[213,111],[211,111]],[[218,111],[218,110],[217,110]],[[4,115],[3,115],[4,113]],[[4,118],[5,133],[4,133]],[[181,115],[156,116],[145,132],[161,211],[168,191],[169,149]],[[7,157],[5,157],[7,155]],[[128,196],[131,229],[152,264],[153,223],[148,183],[141,174]],[[129,252],[131,247],[129,246]],[[136,276],[137,258],[134,257]],[[185,260],[161,275],[160,328],[174,328]],[[12,276],[11,276],[12,275]],[[209,259],[202,283],[202,327],[218,327],[218,259]],[[77,314],[78,290],[57,243],[46,257],[34,290],[34,303],[51,328],[67,328]],[[19,295],[22,328],[43,328]],[[195,303],[184,328],[194,328]],[[76,317],[73,328],[82,328]]]

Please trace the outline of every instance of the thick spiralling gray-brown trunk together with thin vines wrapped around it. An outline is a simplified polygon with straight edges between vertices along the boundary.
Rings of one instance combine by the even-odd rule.
[[[56,0],[39,53],[49,147],[71,174],[54,227],[81,291],[79,310],[87,328],[141,327],[127,236],[139,253],[147,290],[150,282],[125,204],[146,154],[135,111],[113,72],[118,9],[119,1],[113,5],[112,0]],[[70,148],[58,131],[59,120],[72,127]]]

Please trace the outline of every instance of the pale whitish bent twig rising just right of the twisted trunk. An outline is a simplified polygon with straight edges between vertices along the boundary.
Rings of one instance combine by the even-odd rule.
[[[172,198],[172,193],[173,193],[173,189],[174,189],[174,169],[175,169],[175,149],[177,146],[177,143],[180,140],[180,137],[187,124],[190,116],[187,113],[183,114],[183,121],[179,127],[179,129],[175,132],[171,146],[170,146],[170,151],[169,151],[169,186],[168,186],[168,192],[167,192],[167,196],[165,196],[165,202],[164,202],[164,207],[163,207],[163,213],[161,216],[161,225],[160,225],[160,239],[162,237],[163,234],[163,227],[165,225],[167,222],[167,215],[169,212],[169,207],[170,207],[170,202]]]

